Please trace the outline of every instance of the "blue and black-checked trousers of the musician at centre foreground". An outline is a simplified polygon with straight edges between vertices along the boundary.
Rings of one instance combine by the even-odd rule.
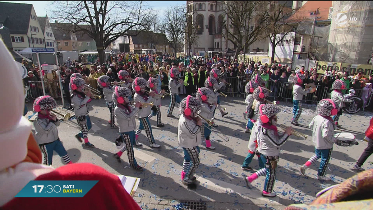
[[[184,148],[183,172],[184,179],[190,180],[200,165],[200,147]]]

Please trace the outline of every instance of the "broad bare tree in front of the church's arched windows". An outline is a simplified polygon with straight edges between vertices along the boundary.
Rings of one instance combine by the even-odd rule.
[[[236,48],[233,59],[244,47],[265,36],[263,30],[268,15],[264,1],[226,1],[223,4],[223,17],[223,37]]]

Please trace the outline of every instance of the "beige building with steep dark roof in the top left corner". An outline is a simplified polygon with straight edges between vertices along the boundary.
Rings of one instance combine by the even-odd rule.
[[[0,2],[0,7],[3,11],[0,13],[0,27],[9,28],[15,51],[45,47],[43,30],[32,4]]]

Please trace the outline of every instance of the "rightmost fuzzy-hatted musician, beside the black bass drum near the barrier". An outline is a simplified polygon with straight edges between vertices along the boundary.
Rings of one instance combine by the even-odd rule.
[[[341,127],[338,124],[339,117],[342,115],[342,108],[345,107],[345,102],[352,102],[350,99],[346,99],[342,94],[342,90],[345,89],[346,83],[342,80],[335,80],[332,84],[333,91],[330,93],[330,98],[335,101],[335,103],[339,106],[338,113],[333,116],[333,121],[337,127]]]

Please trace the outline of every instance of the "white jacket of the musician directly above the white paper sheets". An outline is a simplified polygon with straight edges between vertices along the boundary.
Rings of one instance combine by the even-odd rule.
[[[136,130],[136,120],[135,115],[139,111],[139,108],[135,106],[131,106],[131,112],[129,112],[127,109],[119,108],[118,106],[115,106],[114,108],[114,114],[115,119],[117,121],[117,125],[119,127],[119,132],[130,132],[133,130]]]

